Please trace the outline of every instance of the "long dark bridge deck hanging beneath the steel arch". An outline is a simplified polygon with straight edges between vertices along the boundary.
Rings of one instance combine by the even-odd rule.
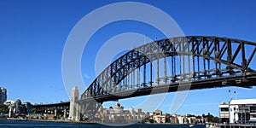
[[[246,80],[246,83],[243,81]],[[181,82],[181,83],[168,83],[168,84],[154,84],[152,86],[143,87],[137,90],[123,90],[113,94],[95,96],[97,102],[108,102],[116,101],[119,99],[124,99],[128,97],[135,96],[147,96],[150,94],[159,94],[166,92],[175,92],[181,90],[199,90],[207,88],[218,88],[225,86],[238,86],[250,88],[256,84],[256,73],[247,74],[246,79],[243,76],[228,76],[215,79],[202,79],[191,82]],[[88,100],[83,99],[80,102]]]

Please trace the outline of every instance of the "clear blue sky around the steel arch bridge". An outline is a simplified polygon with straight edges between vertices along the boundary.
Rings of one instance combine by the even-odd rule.
[[[121,1],[14,1],[0,2],[0,86],[8,90],[8,99],[22,102],[59,102],[69,98],[61,78],[61,55],[73,26],[93,11],[109,3]],[[248,1],[137,1],[151,4],[172,16],[185,35],[207,35],[239,38],[256,42],[256,2]],[[154,15],[152,15],[154,17]],[[104,17],[102,17],[104,18]],[[124,26],[125,25],[125,26]],[[108,28],[123,26],[115,31]],[[138,29],[145,28],[145,29]],[[147,33],[150,28],[140,23],[117,23],[98,32],[90,40],[89,51],[84,51],[82,73],[84,84],[96,78],[94,61],[102,40],[122,32]],[[101,33],[108,32],[108,35]],[[156,34],[156,35],[154,35]],[[102,35],[102,37],[101,37]],[[101,38],[96,40],[96,38]],[[90,56],[88,56],[90,55]],[[255,61],[253,61],[254,63]],[[88,68],[89,67],[89,68]],[[256,98],[256,89],[220,88],[193,90],[177,113],[213,113],[218,115],[218,103],[228,102],[228,90],[236,90],[237,98]],[[160,106],[164,113],[170,112],[172,97],[169,93]],[[168,98],[169,97],[169,98]],[[145,97],[119,101],[125,108],[136,106]],[[106,106],[113,106],[113,102]]]

